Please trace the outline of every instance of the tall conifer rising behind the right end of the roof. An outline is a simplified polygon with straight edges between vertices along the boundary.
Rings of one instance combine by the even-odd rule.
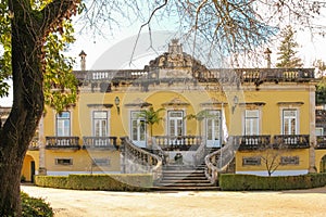
[[[279,55],[277,60],[276,67],[283,68],[298,68],[302,67],[301,59],[297,58],[298,51],[296,49],[299,47],[298,42],[294,40],[296,31],[291,26],[287,26],[281,30],[280,37],[283,38],[280,46],[278,48],[277,54]]]

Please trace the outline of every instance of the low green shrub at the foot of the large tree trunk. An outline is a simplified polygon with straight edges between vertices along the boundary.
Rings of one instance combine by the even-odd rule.
[[[35,199],[28,194],[21,192],[22,199],[22,216],[23,217],[52,217],[53,210],[42,199]]]

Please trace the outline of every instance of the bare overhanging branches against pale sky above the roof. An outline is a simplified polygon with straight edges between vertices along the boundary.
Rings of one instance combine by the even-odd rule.
[[[164,29],[168,21],[167,30],[177,35],[173,37],[183,38],[197,58],[216,64],[210,59],[240,54],[254,61],[254,55],[262,54],[260,46],[271,43],[285,23],[322,34],[313,20],[322,16],[324,7],[311,0],[98,0],[86,4],[80,22],[88,21],[85,30],[105,35],[105,27],[111,30],[126,21],[142,22],[140,31],[149,33]]]

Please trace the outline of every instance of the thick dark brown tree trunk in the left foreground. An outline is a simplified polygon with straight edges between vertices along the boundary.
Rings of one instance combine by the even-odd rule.
[[[24,23],[26,13],[14,13],[11,23],[14,91],[11,113],[0,129],[0,216],[22,215],[22,165],[43,111],[40,34],[32,22]]]

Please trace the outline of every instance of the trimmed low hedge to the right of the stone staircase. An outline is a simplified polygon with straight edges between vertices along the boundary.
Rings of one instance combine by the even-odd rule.
[[[222,174],[218,183],[223,191],[311,189],[326,186],[326,174],[275,177]]]

